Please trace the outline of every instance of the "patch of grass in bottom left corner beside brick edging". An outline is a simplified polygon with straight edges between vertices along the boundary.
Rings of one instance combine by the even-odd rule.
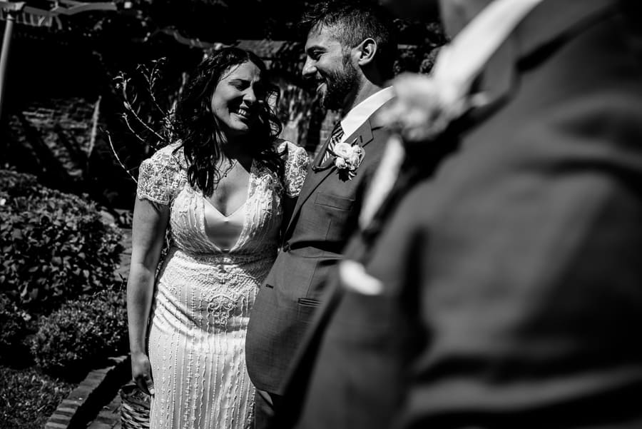
[[[41,429],[73,389],[35,368],[0,367],[0,429]]]

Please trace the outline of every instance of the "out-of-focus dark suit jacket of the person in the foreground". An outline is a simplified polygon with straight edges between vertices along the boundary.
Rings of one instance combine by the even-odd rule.
[[[642,63],[619,7],[544,1],[491,59],[459,151],[351,243],[384,293],[329,292],[275,427],[642,427]]]

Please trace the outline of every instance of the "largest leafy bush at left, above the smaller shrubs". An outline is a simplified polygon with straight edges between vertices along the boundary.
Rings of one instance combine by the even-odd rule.
[[[93,203],[0,170],[0,288],[22,305],[46,311],[111,283],[120,241]]]

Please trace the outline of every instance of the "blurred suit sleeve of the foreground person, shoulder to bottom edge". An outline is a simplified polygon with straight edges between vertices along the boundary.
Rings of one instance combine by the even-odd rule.
[[[642,427],[642,69],[608,25],[521,76],[384,228],[367,268],[412,253],[426,338],[397,428]]]

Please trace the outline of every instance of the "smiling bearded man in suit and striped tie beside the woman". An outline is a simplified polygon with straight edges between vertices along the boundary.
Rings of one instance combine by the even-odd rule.
[[[322,146],[302,187],[282,248],[258,293],[246,341],[258,389],[257,427],[267,425],[292,355],[322,301],[327,276],[342,259],[388,133],[372,123],[392,99],[394,24],[373,4],[317,4],[307,29],[302,74],[341,121]]]

